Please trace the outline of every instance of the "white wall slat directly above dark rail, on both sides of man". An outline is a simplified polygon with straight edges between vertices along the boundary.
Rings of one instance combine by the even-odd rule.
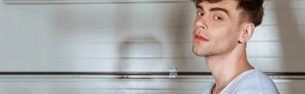
[[[304,58],[248,58],[264,72],[305,72]],[[97,59],[2,59],[0,71],[86,71],[86,72],[209,72],[204,58],[97,58]],[[272,67],[272,68],[270,68]]]

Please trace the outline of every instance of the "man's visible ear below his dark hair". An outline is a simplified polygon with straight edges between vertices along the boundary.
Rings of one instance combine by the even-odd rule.
[[[241,28],[241,37],[239,38],[239,42],[245,43],[252,37],[254,32],[255,25],[253,23],[246,23]]]

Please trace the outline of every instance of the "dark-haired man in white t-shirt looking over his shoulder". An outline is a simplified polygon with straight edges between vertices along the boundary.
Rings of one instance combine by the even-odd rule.
[[[193,53],[215,78],[209,93],[277,94],[275,83],[247,60],[246,42],[262,23],[263,0],[192,0],[197,9]]]

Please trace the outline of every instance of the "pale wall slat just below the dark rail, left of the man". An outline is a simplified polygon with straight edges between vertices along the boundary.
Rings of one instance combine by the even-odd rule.
[[[37,89],[201,89],[210,82],[187,82],[187,81],[7,81],[0,82],[0,88],[31,88]],[[162,85],[162,86],[161,86]]]

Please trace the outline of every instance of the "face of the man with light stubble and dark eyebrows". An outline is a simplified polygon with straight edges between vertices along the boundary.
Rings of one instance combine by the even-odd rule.
[[[193,26],[193,53],[200,57],[227,54],[238,43],[237,2],[200,3]]]

